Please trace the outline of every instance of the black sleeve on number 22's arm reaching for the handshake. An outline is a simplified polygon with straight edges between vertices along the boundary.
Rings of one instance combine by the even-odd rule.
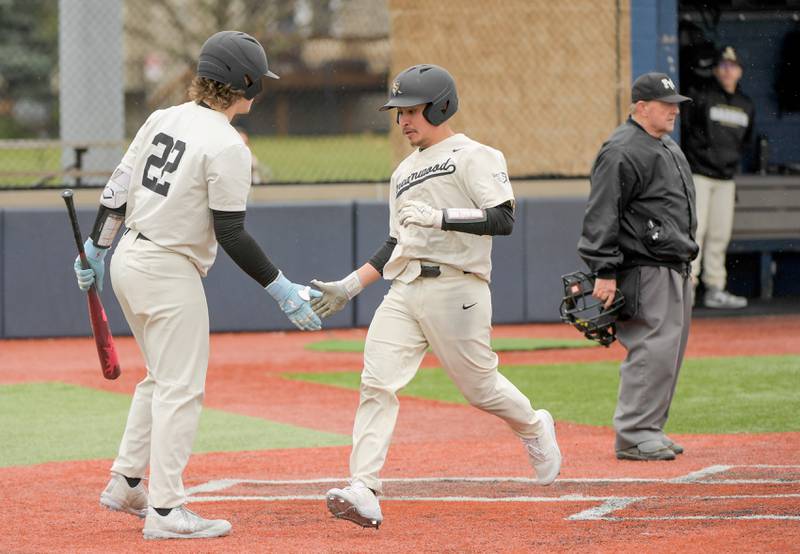
[[[214,215],[217,242],[236,265],[262,287],[274,281],[278,276],[278,268],[272,265],[258,243],[244,230],[245,212],[211,210],[211,213]]]

